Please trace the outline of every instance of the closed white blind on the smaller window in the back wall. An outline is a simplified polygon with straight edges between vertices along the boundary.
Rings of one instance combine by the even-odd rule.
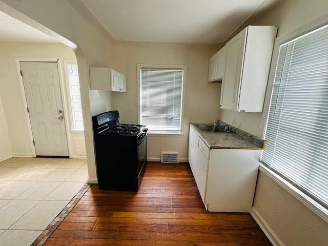
[[[149,131],[180,131],[183,69],[140,69],[140,124]]]

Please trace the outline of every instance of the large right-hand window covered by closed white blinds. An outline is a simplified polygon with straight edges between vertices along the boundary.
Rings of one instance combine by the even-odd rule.
[[[328,27],[283,44],[261,161],[328,207]]]

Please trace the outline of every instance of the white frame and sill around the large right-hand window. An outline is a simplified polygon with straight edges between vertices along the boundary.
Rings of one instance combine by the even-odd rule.
[[[276,75],[276,67],[278,63],[278,56],[279,56],[279,48],[282,44],[288,43],[291,40],[300,37],[304,34],[312,32],[316,29],[319,29],[325,25],[328,25],[328,14],[322,15],[319,18],[312,20],[295,30],[285,33],[283,35],[278,36],[275,39],[272,60],[271,60],[271,67],[268,77],[268,85],[267,91],[265,93],[264,105],[263,105],[263,112],[262,112],[262,119],[261,119],[261,126],[259,130],[259,136],[264,139],[265,130],[267,128],[268,117],[269,117],[269,110],[270,110],[270,102],[271,96],[273,92],[273,83]],[[279,29],[278,29],[279,31]],[[293,195],[296,199],[302,202],[306,207],[308,207],[312,212],[317,214],[320,218],[328,222],[328,209],[324,208],[319,202],[314,200],[308,194],[304,193],[302,190],[298,189],[293,182],[289,181],[282,175],[276,173],[272,169],[270,169],[267,165],[260,162],[260,171],[264,174],[272,178],[278,185],[280,185],[283,189],[288,191],[291,195]]]

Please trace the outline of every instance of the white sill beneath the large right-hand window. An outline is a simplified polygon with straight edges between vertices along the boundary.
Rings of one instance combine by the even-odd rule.
[[[273,179],[279,186],[281,186],[284,190],[302,202],[306,207],[308,207],[313,213],[323,219],[325,222],[328,222],[328,209],[324,208],[320,203],[306,195],[301,190],[297,189],[293,186],[289,181],[280,177],[278,174],[270,170],[268,167],[265,167],[262,163],[260,163],[260,171],[262,171],[265,175]]]

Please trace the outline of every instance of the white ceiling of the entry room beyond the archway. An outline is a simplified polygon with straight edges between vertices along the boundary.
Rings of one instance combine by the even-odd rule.
[[[0,11],[0,41],[58,43],[56,39]]]

